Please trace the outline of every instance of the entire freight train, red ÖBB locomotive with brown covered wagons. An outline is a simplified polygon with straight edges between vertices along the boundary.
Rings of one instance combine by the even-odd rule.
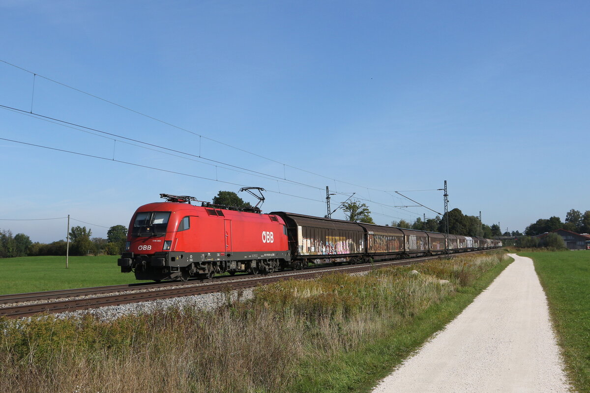
[[[445,253],[442,233],[272,212],[232,209],[189,196],[140,206],[129,223],[121,272],[138,280],[270,273],[310,263],[365,263]],[[499,240],[448,235],[448,252],[501,247]]]

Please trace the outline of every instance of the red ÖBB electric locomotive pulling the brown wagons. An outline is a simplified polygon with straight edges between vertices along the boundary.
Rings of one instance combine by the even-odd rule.
[[[168,202],[145,204],[129,223],[118,265],[138,280],[211,278],[215,273],[273,272],[290,262],[281,217],[257,209],[193,206],[189,196],[160,194]]]

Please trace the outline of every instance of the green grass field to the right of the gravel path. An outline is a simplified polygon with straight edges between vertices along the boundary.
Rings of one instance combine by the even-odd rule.
[[[590,251],[519,255],[535,261],[573,386],[590,392]]]

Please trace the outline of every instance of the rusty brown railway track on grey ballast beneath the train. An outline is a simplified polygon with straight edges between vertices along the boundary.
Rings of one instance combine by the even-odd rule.
[[[480,252],[482,251],[461,253],[461,255]],[[269,273],[263,276],[221,276],[211,280],[205,280],[204,282],[194,280],[189,282],[139,283],[4,295],[0,296],[0,316],[22,318],[24,316],[31,316],[43,312],[60,313],[104,306],[123,305],[127,303],[146,302],[156,299],[203,295],[205,293],[221,292],[227,289],[237,290],[253,288],[257,285],[266,285],[291,278],[314,279],[326,273],[358,273],[386,266],[412,265],[414,263],[420,263],[441,257],[444,257],[444,255],[363,263],[361,265],[289,270],[287,272]],[[67,299],[60,300],[64,298]],[[15,305],[2,306],[11,304]]]

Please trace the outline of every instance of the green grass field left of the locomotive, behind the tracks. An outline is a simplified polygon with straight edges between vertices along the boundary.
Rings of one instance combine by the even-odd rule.
[[[121,273],[116,255],[27,256],[0,259],[0,295],[139,282]]]

